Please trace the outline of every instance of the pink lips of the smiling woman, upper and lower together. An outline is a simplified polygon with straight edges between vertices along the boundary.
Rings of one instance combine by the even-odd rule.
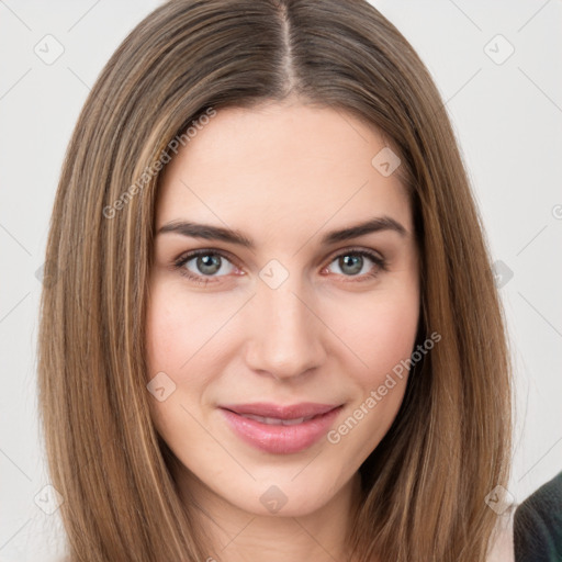
[[[289,454],[303,451],[328,431],[341,404],[301,403],[289,406],[267,403],[221,405],[231,429],[245,442],[266,452]],[[313,416],[308,420],[291,425],[272,425],[245,415],[277,418],[291,423]]]

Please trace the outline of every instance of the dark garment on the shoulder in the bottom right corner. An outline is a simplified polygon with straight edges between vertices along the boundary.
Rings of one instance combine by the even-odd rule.
[[[562,472],[515,510],[516,562],[562,562]]]

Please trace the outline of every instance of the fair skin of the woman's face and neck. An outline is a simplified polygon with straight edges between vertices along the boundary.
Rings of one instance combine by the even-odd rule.
[[[150,401],[151,416],[180,461],[182,497],[206,513],[200,520],[215,546],[211,559],[347,558],[358,469],[394,420],[407,372],[339,442],[322,438],[297,453],[241,441],[217,405],[344,404],[337,429],[411,356],[418,256],[397,173],[384,177],[371,165],[384,146],[376,130],[348,113],[291,100],[218,110],[164,170],[156,232],[189,220],[240,231],[256,244],[250,250],[178,233],[155,238],[148,380],[165,372],[176,389]],[[406,234],[319,245],[327,232],[381,215]],[[227,256],[214,255],[222,265],[211,274],[196,258],[183,266],[210,278],[206,285],[172,267],[194,249]],[[350,249],[382,255],[387,270],[364,257],[353,274],[338,259],[356,256]],[[259,277],[272,259],[289,274],[276,289]],[[378,276],[369,278],[372,271]],[[260,502],[272,485],[286,497],[276,514]]]

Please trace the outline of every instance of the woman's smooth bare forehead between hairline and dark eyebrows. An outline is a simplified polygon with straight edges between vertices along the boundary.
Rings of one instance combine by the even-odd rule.
[[[218,109],[205,123],[162,170],[157,227],[190,218],[259,237],[384,214],[412,229],[398,175],[372,164],[383,137],[353,115],[269,103]]]

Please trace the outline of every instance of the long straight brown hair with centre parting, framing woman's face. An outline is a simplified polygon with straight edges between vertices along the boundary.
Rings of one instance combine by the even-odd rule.
[[[210,555],[149,416],[145,313],[159,170],[173,139],[186,144],[211,110],[288,95],[372,124],[400,154],[420,252],[418,337],[441,335],[361,465],[350,555],[485,559],[497,518],[485,496],[509,475],[508,342],[482,221],[429,72],[363,0],[171,0],[98,78],[53,211],[38,386],[71,561]]]

